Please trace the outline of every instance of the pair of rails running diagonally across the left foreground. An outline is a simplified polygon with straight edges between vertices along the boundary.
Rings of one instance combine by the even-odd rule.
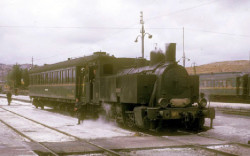
[[[72,138],[75,138],[77,141],[79,141],[79,143],[84,142],[84,143],[87,143],[87,144],[89,144],[89,145],[95,146],[95,147],[97,147],[98,149],[100,149],[100,150],[98,150],[98,151],[103,151],[103,153],[107,153],[108,155],[120,155],[120,154],[117,153],[116,151],[113,151],[113,150],[104,148],[104,147],[102,147],[102,146],[100,146],[100,145],[97,145],[97,144],[95,144],[95,143],[92,143],[92,142],[90,142],[90,141],[88,141],[88,140],[79,138],[79,137],[74,136],[74,135],[72,135],[72,134],[69,134],[69,133],[67,133],[67,132],[64,132],[64,131],[58,130],[58,129],[56,129],[56,128],[53,128],[53,127],[51,127],[51,126],[45,125],[45,124],[43,124],[43,123],[40,123],[40,122],[35,121],[35,120],[33,120],[33,119],[27,118],[27,117],[25,117],[25,116],[23,116],[23,115],[20,115],[20,114],[18,114],[18,113],[15,113],[15,112],[10,111],[10,110],[8,110],[8,109],[5,109],[5,108],[3,108],[3,107],[0,107],[0,108],[1,108],[2,110],[4,110],[4,111],[7,111],[7,112],[9,112],[9,113],[12,113],[12,114],[18,116],[18,117],[21,117],[21,118],[23,118],[23,119],[32,121],[33,123],[42,125],[42,126],[48,128],[48,129],[50,129],[50,130],[56,131],[56,132],[58,132],[58,133],[61,133],[61,134],[63,134],[63,135],[66,135],[66,136],[69,136],[69,137],[72,137]],[[38,141],[32,139],[31,137],[25,135],[23,132],[21,132],[20,130],[18,130],[18,129],[16,129],[15,127],[11,126],[11,125],[8,124],[7,122],[3,121],[2,119],[0,119],[0,121],[1,121],[3,124],[5,124],[6,126],[8,126],[9,128],[11,128],[12,130],[14,130],[14,131],[15,131],[16,133],[18,133],[19,135],[23,136],[24,138],[26,138],[26,139],[30,140],[31,142],[33,142],[33,143],[35,143],[35,144],[41,146],[42,148],[44,148],[44,149],[47,151],[47,152],[46,152],[47,154],[55,155],[55,156],[63,154],[63,153],[60,153],[60,154],[56,153],[54,150],[52,150],[50,147],[46,146],[44,143],[41,143],[41,142],[38,142]],[[85,144],[84,144],[84,145],[85,145]],[[79,153],[78,153],[78,154],[79,154]],[[84,153],[83,153],[83,154],[84,154]]]

